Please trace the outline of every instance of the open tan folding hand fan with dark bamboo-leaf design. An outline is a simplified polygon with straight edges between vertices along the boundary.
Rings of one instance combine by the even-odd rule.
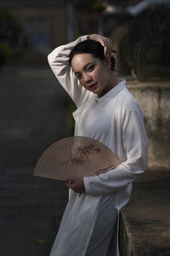
[[[95,176],[120,164],[116,155],[90,137],[66,137],[49,146],[37,161],[34,175],[65,180]]]

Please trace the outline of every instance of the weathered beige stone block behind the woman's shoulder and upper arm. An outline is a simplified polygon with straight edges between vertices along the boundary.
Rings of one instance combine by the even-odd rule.
[[[149,137],[149,168],[170,168],[170,81],[127,81],[144,111]]]

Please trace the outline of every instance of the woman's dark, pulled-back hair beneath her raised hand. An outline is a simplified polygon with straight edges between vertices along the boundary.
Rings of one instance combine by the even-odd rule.
[[[82,54],[82,53],[88,53],[92,54],[94,58],[98,58],[100,61],[105,60],[104,55],[104,47],[97,41],[88,39],[85,41],[82,41],[81,43],[77,44],[72,50],[69,55],[69,63],[71,65],[71,61],[74,57],[74,55]],[[111,56],[111,70],[115,70],[115,58]]]

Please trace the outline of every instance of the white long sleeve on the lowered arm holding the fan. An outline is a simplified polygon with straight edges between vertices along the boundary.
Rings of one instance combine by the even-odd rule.
[[[148,138],[141,109],[127,109],[123,114],[120,129],[127,160],[99,176],[84,177],[86,193],[89,195],[109,194],[122,189],[146,169]]]

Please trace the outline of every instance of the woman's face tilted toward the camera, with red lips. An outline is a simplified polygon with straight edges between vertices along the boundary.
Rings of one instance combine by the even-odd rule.
[[[99,96],[104,96],[111,90],[109,83],[111,65],[109,62],[100,61],[91,54],[82,53],[74,55],[71,67],[82,86]]]

